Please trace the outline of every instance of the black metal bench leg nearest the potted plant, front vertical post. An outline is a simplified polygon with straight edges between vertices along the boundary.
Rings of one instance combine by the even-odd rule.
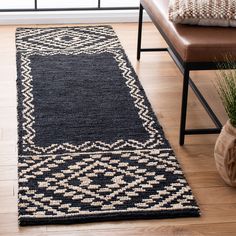
[[[183,91],[182,91],[182,107],[181,107],[181,118],[180,118],[180,135],[179,144],[184,145],[185,137],[185,126],[186,126],[186,116],[187,116],[187,105],[188,105],[188,85],[189,85],[189,70],[184,70],[183,78]]]

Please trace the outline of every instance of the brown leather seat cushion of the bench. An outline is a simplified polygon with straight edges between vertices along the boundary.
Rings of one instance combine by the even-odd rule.
[[[173,24],[168,20],[169,0],[141,0],[156,26],[160,26],[185,62],[223,61],[236,57],[236,29]]]

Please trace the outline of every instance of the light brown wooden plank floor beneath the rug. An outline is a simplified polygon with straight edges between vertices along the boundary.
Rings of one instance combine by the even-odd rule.
[[[45,26],[44,26],[45,27]],[[166,53],[143,53],[136,61],[136,24],[113,24],[160,123],[164,127],[202,211],[200,218],[137,220],[19,227],[17,222],[17,114],[15,26],[0,26],[0,235],[236,235],[236,189],[216,172],[213,150],[217,135],[186,138],[178,145],[182,76]],[[152,24],[144,26],[144,46],[163,46]],[[195,72],[193,79],[222,122],[226,121],[213,81],[214,72]],[[188,126],[211,126],[190,91]]]

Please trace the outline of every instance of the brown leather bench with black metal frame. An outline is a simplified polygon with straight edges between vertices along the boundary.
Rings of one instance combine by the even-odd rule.
[[[183,74],[182,105],[179,144],[184,144],[185,135],[220,133],[222,124],[190,78],[193,70],[216,70],[225,55],[236,57],[236,28],[201,27],[173,24],[168,20],[169,0],[141,0],[139,8],[137,60],[141,52],[167,51]],[[141,48],[143,10],[165,39],[168,48]],[[188,87],[215,124],[215,128],[186,129]]]

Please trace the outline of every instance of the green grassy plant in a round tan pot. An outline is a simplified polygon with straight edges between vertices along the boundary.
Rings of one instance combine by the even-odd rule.
[[[220,65],[217,90],[229,120],[224,125],[215,144],[214,156],[218,172],[224,181],[236,187],[236,64]]]

